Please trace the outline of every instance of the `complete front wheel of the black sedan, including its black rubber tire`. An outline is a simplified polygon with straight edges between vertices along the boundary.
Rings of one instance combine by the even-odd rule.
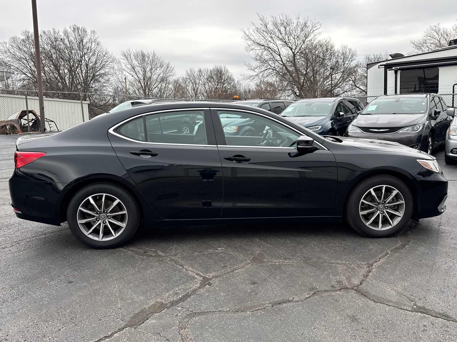
[[[395,190],[398,191],[391,199],[387,198],[389,203],[399,203],[389,206],[388,211],[384,207],[387,203],[379,202],[383,189],[384,199]],[[377,200],[371,190],[375,192]],[[362,202],[362,199],[366,202]],[[347,223],[358,233],[372,238],[386,238],[404,231],[411,219],[413,207],[413,196],[404,182],[394,176],[376,175],[361,180],[354,187],[346,201],[345,214]]]

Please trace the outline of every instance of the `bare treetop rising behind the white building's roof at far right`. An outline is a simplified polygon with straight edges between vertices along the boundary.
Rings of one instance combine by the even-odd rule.
[[[457,24],[447,28],[438,23],[433,26],[430,25],[421,38],[411,40],[409,43],[413,47],[412,53],[421,53],[447,47],[449,41],[455,38],[457,38]]]

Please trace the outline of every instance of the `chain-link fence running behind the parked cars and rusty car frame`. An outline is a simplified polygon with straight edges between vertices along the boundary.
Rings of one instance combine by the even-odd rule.
[[[457,94],[441,95],[447,106],[457,107]],[[379,95],[352,96],[364,105]],[[122,102],[145,98],[122,93],[44,92],[46,130],[66,130],[99,114],[106,113]],[[311,97],[310,97],[311,98]],[[170,99],[170,98],[149,98]],[[233,99],[174,98],[182,101],[232,102]],[[285,98],[286,99],[286,98]],[[299,98],[287,98],[298,100]],[[0,134],[40,131],[39,104],[36,91],[0,90]]]

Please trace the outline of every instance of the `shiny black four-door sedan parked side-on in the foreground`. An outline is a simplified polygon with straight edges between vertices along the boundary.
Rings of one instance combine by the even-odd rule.
[[[193,134],[182,115],[202,118]],[[253,135],[227,135],[240,115]],[[161,119],[176,129],[161,127]],[[178,127],[179,126],[179,127]],[[140,222],[347,222],[387,237],[445,211],[435,158],[394,142],[324,137],[239,104],[168,103],[102,114],[20,138],[10,193],[18,218],[60,225],[94,248],[124,244]]]

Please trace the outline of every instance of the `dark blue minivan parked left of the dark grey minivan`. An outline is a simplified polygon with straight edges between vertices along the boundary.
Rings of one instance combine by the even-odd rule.
[[[345,135],[363,109],[356,98],[307,98],[296,101],[281,116],[319,135]]]

